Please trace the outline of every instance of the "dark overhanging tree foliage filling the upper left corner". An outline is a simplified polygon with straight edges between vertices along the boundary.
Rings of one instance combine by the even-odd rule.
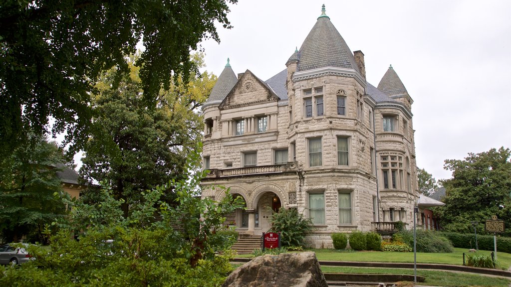
[[[137,66],[145,100],[156,101],[172,75],[188,82],[197,71],[190,51],[200,49],[202,39],[220,41],[216,21],[231,28],[228,3],[237,0],[3,1],[0,151],[12,152],[28,131],[65,131],[71,150],[80,148],[100,75],[111,67],[127,70],[125,56],[141,40],[145,51]]]

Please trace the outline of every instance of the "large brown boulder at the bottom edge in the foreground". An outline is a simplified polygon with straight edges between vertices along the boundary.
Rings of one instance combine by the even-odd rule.
[[[227,277],[222,287],[328,287],[314,252],[264,255]]]

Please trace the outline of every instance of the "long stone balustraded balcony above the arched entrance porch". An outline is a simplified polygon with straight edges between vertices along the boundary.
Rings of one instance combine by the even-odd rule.
[[[249,175],[267,175],[267,174],[282,174],[286,172],[298,171],[298,162],[292,161],[286,164],[272,164],[249,166],[246,168],[238,169],[212,169],[206,178],[222,178],[222,177],[237,177]]]

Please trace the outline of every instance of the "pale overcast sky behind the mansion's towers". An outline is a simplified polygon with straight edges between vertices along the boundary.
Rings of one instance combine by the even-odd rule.
[[[511,148],[511,1],[266,1],[231,6],[231,30],[208,40],[206,69],[227,57],[235,73],[267,80],[286,67],[326,5],[351,51],[365,55],[375,86],[389,64],[414,103],[417,165],[450,178],[445,159]]]

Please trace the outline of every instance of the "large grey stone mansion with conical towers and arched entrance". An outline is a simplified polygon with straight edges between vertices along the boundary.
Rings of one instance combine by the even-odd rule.
[[[419,201],[413,100],[390,66],[378,87],[366,82],[364,54],[351,52],[323,9],[286,68],[263,81],[227,64],[203,105],[202,196],[221,185],[246,210],[227,223],[261,234],[272,210],[297,208],[315,229],[315,247],[332,232],[412,225]]]

